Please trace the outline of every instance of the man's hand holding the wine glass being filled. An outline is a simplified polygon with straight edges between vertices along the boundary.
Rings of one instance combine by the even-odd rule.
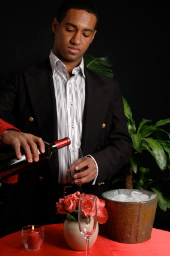
[[[76,179],[74,181],[75,184],[84,184],[93,181],[93,179],[96,178],[97,170],[93,158],[79,158],[71,164],[71,168],[74,168],[75,170],[83,170],[80,173],[74,174],[74,179]],[[70,170],[67,172],[70,173]]]

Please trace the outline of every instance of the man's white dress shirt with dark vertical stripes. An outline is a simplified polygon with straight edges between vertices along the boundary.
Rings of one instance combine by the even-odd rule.
[[[83,59],[68,77],[66,67],[55,54],[50,53],[53,85],[55,88],[58,139],[69,137],[71,144],[58,150],[59,184],[71,182],[67,150],[80,147],[82,139],[83,109],[85,104],[85,74]]]

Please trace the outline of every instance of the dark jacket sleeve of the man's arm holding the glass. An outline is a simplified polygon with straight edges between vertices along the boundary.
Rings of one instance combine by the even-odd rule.
[[[123,100],[118,84],[114,92],[113,102],[112,114],[109,116],[109,120],[107,118],[105,122],[106,126],[108,121],[111,124],[107,142],[100,150],[91,153],[99,167],[97,182],[105,181],[120,170],[129,162],[132,153],[132,139],[127,129]]]

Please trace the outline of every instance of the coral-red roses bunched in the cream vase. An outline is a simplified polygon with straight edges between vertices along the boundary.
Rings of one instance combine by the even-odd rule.
[[[85,195],[86,196],[86,195]],[[69,194],[62,199],[59,199],[59,202],[56,202],[57,213],[66,214],[66,218],[70,220],[78,219],[78,206],[79,206],[79,197],[80,192],[74,194]],[[87,195],[87,198],[89,195]],[[99,199],[96,196],[97,204],[97,222],[100,224],[105,223],[108,220],[108,213],[105,208],[105,200]],[[84,204],[83,211],[85,216],[93,216],[94,207],[88,202]]]

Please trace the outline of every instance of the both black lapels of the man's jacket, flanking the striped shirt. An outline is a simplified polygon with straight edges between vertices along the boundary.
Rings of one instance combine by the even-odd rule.
[[[55,141],[57,139],[56,101],[49,59],[26,73],[25,76],[41,137],[44,141]],[[110,94],[110,85],[85,67],[85,107],[82,132],[84,155],[94,152],[102,124],[105,123]]]

